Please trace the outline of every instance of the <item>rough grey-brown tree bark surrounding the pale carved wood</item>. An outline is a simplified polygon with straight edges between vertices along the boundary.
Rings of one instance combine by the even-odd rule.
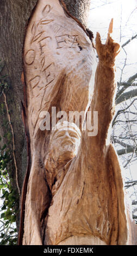
[[[8,75],[6,82],[9,84],[9,90],[6,95],[8,109],[5,106],[4,94],[0,97],[1,123],[0,135],[2,137],[1,146],[7,144],[10,149],[10,155],[13,159],[11,164],[12,173],[10,177],[14,179],[14,187],[19,187],[21,194],[24,175],[27,169],[27,143],[24,125],[22,122],[22,104],[23,102],[23,84],[21,81],[22,49],[26,26],[30,15],[36,5],[36,0],[1,0],[1,31],[0,31],[0,79],[2,75]],[[86,25],[90,0],[65,0],[70,13],[79,21]],[[4,103],[4,112],[2,106]],[[9,124],[7,111],[10,115],[13,133]],[[3,126],[8,123],[8,126]],[[7,131],[11,133],[11,140],[7,138]],[[14,139],[13,139],[14,137]],[[14,145],[13,145],[14,142]],[[15,150],[14,150],[15,148]],[[14,152],[15,151],[15,152]],[[15,155],[13,155],[15,153]],[[17,192],[19,193],[17,190]],[[19,209],[19,200],[17,200],[16,209]],[[19,213],[16,218],[17,228],[19,226]]]

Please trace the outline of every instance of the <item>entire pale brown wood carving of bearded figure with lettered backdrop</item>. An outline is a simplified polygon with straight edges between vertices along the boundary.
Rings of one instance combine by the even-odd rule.
[[[30,175],[23,245],[128,243],[121,168],[109,137],[120,49],[112,29],[113,20],[104,45],[97,33],[96,69],[92,42],[58,0],[39,0],[29,20],[23,60]],[[66,118],[52,120],[52,107]],[[68,121],[72,111],[83,111],[86,120],[89,110],[98,112],[96,136],[82,129],[83,120],[80,129]],[[49,130],[40,129],[43,111]]]

